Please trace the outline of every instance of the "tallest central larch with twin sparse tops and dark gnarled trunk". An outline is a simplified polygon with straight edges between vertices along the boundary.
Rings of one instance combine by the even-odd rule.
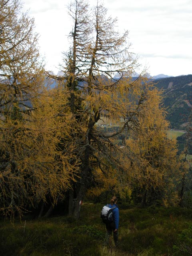
[[[107,179],[115,168],[121,169],[114,137],[124,128],[136,125],[133,116],[140,102],[132,101],[130,95],[134,94],[135,99],[142,96],[143,78],[132,80],[138,64],[130,52],[128,31],[116,31],[117,19],[108,17],[102,4],[97,3],[90,11],[87,2],[74,0],[68,10],[74,26],[69,36],[70,50],[64,55],[62,79],[70,92],[67,104],[76,120],[74,130],[79,131],[79,180],[73,184],[69,205],[70,214],[78,218],[86,191],[97,184],[94,174],[101,172]],[[103,119],[120,123],[120,118],[128,116],[118,132],[106,134],[98,130],[98,122]]]

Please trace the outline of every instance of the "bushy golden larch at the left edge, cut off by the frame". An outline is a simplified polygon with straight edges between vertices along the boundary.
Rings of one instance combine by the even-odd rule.
[[[19,0],[0,1],[0,211],[22,216],[56,204],[78,170],[70,164],[73,117],[68,94],[48,90],[34,19]],[[62,133],[62,140],[60,140]]]

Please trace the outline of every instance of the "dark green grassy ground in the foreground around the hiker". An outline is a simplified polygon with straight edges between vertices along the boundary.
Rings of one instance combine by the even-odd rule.
[[[3,256],[178,256],[184,246],[192,251],[192,211],[181,208],[120,208],[119,247],[104,244],[102,204],[82,205],[80,220],[67,216],[14,225],[1,220],[0,255]],[[187,231],[183,231],[187,230]],[[182,234],[179,236],[179,234]],[[191,244],[188,245],[188,240]],[[189,238],[188,238],[189,237]],[[191,239],[191,240],[190,240]],[[174,247],[174,248],[173,248]]]

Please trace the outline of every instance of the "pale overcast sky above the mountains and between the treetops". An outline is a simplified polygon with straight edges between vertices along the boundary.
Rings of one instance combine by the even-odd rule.
[[[68,0],[22,0],[23,11],[35,19],[46,70],[55,74],[68,50],[72,29]],[[97,0],[90,0],[90,6]],[[129,30],[131,52],[152,75],[192,74],[192,0],[103,0],[108,15],[118,18],[118,30]]]

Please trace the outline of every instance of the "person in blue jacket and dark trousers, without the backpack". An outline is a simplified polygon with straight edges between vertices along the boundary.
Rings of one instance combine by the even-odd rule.
[[[118,242],[118,228],[119,228],[119,208],[116,203],[117,203],[117,198],[116,196],[113,196],[112,199],[110,200],[109,207],[113,208],[114,206],[116,206],[116,208],[112,210],[114,214],[114,221],[111,222],[110,224],[106,224],[107,245],[110,245],[110,237],[112,236],[112,233],[113,233],[115,246],[117,246],[117,242]]]

